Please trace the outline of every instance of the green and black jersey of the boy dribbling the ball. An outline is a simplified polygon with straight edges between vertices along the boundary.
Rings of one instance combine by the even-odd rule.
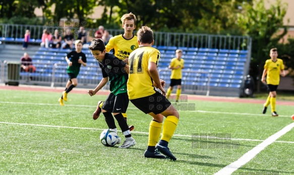
[[[99,62],[103,78],[108,77],[110,92],[115,96],[127,92],[128,73],[124,67],[126,63],[114,55],[105,53],[104,59]]]

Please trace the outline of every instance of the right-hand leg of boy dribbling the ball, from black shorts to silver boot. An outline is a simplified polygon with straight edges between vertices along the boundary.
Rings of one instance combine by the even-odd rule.
[[[126,140],[119,148],[129,148],[136,145],[135,139],[131,135],[131,131],[128,127],[127,121],[125,120],[122,113],[126,113],[129,105],[128,93],[121,93],[115,96],[112,113],[117,123],[120,125]]]

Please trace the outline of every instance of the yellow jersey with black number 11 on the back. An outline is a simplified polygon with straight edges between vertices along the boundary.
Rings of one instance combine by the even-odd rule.
[[[159,50],[153,47],[139,47],[129,57],[129,79],[127,91],[129,99],[147,97],[155,93],[153,80],[149,74],[148,64],[154,62],[158,65]]]

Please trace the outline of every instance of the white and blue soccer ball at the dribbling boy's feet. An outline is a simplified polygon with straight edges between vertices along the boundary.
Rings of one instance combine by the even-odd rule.
[[[119,136],[111,129],[105,129],[100,134],[100,141],[104,146],[114,146],[118,140]]]

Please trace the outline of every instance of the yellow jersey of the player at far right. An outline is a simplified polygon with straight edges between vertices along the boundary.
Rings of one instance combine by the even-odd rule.
[[[264,69],[267,70],[266,83],[272,85],[279,85],[280,83],[280,71],[284,70],[283,60],[277,58],[276,62],[271,59],[265,61]]]

